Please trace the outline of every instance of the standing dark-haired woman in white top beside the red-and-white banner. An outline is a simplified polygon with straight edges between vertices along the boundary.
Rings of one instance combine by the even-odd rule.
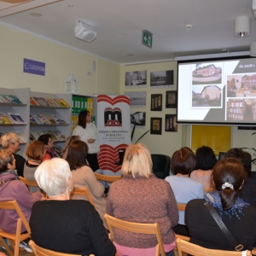
[[[86,159],[92,171],[95,172],[100,169],[97,159],[97,154],[100,152],[98,133],[96,125],[91,122],[89,111],[84,110],[79,113],[79,124],[73,130],[73,135],[79,135],[80,140],[88,145],[89,150]]]

